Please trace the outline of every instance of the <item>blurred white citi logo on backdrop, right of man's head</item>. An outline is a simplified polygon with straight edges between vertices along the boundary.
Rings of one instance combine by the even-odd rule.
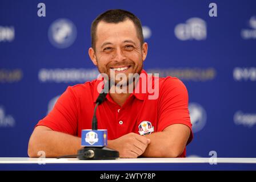
[[[174,34],[179,40],[205,40],[206,22],[201,18],[190,18],[186,23],[177,24]]]

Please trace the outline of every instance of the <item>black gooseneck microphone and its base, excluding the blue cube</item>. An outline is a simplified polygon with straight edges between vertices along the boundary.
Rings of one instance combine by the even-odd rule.
[[[102,104],[103,101],[105,101],[107,93],[109,92],[109,89],[112,85],[113,84],[111,83],[111,81],[107,80],[105,83],[104,89],[99,94],[96,100],[96,105],[94,107],[94,113],[93,113],[92,130],[98,130],[98,125],[97,125],[98,122],[96,117],[97,107],[98,105]],[[78,150],[77,158],[80,160],[117,159],[119,158],[119,152],[107,147],[84,147],[81,150]]]

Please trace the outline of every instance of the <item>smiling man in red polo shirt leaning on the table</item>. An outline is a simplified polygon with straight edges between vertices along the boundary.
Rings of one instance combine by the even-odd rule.
[[[109,77],[122,73],[127,77],[121,80],[122,89],[134,86],[132,93],[110,91],[98,106],[98,129],[107,129],[108,147],[119,151],[121,158],[185,157],[186,145],[193,139],[186,87],[178,78],[155,77],[143,70],[147,43],[139,19],[124,10],[106,11],[92,23],[91,40],[89,55],[98,71]],[[129,74],[138,74],[138,82]],[[114,82],[117,86],[120,80],[115,77]],[[38,151],[45,151],[46,157],[77,154],[81,130],[91,129],[101,84],[93,80],[67,88],[35,127],[30,157],[37,157]]]

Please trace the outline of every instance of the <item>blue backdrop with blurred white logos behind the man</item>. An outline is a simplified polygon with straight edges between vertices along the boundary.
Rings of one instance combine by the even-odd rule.
[[[97,77],[87,53],[90,26],[108,9],[141,19],[147,72],[179,77],[187,86],[194,130],[187,155],[255,157],[253,0],[0,0],[0,156],[27,156],[33,127],[58,96]]]

